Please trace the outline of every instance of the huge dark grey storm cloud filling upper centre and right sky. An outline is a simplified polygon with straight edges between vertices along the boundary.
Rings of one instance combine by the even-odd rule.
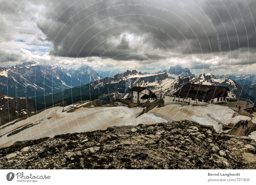
[[[50,54],[87,57],[107,50],[102,57],[142,61],[152,56],[161,59],[154,49],[160,49],[165,58],[174,53],[221,55],[248,48],[248,44],[256,47],[255,1],[246,1],[252,15],[244,1],[95,2],[51,1],[45,5],[37,26],[53,43]]]

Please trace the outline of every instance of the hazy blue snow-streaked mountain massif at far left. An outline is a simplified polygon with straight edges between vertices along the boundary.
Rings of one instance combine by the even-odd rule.
[[[65,69],[26,62],[11,67],[0,67],[0,93],[12,97],[42,96],[59,93],[100,78],[102,77],[89,66]]]

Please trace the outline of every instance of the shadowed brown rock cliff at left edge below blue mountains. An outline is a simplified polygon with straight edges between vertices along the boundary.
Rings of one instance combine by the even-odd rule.
[[[28,98],[11,98],[7,94],[0,94],[0,125],[19,119],[34,111]]]

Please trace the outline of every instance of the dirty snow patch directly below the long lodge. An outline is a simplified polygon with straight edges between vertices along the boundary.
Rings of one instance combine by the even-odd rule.
[[[190,120],[202,125],[212,125],[216,132],[222,132],[223,125],[236,124],[240,120],[251,120],[248,116],[239,115],[229,107],[209,104],[207,106],[192,106],[172,104],[155,107],[149,113],[162,115],[173,121]]]

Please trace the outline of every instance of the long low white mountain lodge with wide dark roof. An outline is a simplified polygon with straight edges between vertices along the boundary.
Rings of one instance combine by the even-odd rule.
[[[208,105],[226,101],[228,87],[187,83],[170,96],[164,96],[164,104]]]

